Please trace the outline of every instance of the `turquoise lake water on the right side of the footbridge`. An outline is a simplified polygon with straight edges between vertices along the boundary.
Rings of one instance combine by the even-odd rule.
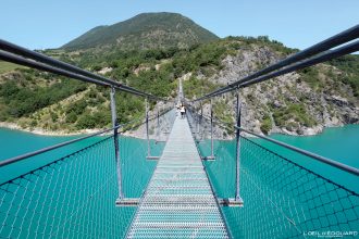
[[[358,167],[359,126],[318,136],[272,138]],[[258,138],[240,140],[243,207],[222,207],[234,238],[301,238],[306,231],[358,228],[359,178]],[[199,142],[210,155],[210,141]],[[219,198],[236,191],[235,141],[214,141],[215,161],[205,165]],[[335,216],[334,216],[335,215]]]

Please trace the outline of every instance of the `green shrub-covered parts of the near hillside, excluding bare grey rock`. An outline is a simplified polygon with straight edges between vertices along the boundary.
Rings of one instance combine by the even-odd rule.
[[[106,74],[108,77],[161,97],[175,97],[176,78],[190,72],[194,74],[189,80],[184,81],[184,89],[186,97],[191,98],[220,87],[220,85],[212,84],[207,79],[223,68],[221,61],[228,54],[235,55],[240,50],[250,50],[252,46],[265,46],[283,58],[295,52],[295,50],[285,48],[280,42],[270,41],[265,37],[230,37],[194,46],[189,49],[122,51],[117,48],[111,48],[76,52],[49,50],[46,53],[94,72],[110,67],[111,71]],[[358,58],[355,60],[349,58],[349,60],[339,59],[331,64],[346,71],[337,79],[343,80],[356,91],[359,73],[351,68],[357,65]],[[264,67],[264,65],[258,64],[258,68],[260,67]],[[318,71],[324,72],[325,75],[331,74],[325,72],[326,70],[317,67],[300,72],[302,80],[311,85],[314,90],[321,89],[318,84],[322,84],[317,80]],[[60,127],[69,130],[99,128],[110,124],[108,89],[91,87],[88,90],[88,85],[77,85],[77,83],[64,78],[54,79],[50,74],[39,74],[35,71],[16,72],[22,75],[21,79],[17,81],[8,80],[5,85],[0,86],[0,104],[3,105],[1,108],[1,121],[17,121],[21,117],[24,126],[40,126],[53,130]],[[202,78],[197,78],[198,74],[202,75]],[[38,84],[39,81],[44,83],[44,80],[49,84]],[[71,104],[64,103],[69,97],[71,98],[78,92],[85,93],[72,99]],[[22,96],[32,100],[26,101]],[[225,114],[224,106],[221,105],[226,105],[226,103],[218,103],[215,106],[218,115],[223,115],[225,121],[232,121],[231,115]],[[121,123],[124,123],[143,114],[144,101],[126,93],[120,93],[117,96],[117,110],[119,118]],[[307,115],[304,105],[288,105],[273,114],[274,121],[278,125],[286,125],[288,115],[294,115],[308,126],[314,124],[312,118]],[[47,124],[45,125],[44,122]],[[264,115],[262,118],[263,131],[270,130],[270,122],[269,115]]]

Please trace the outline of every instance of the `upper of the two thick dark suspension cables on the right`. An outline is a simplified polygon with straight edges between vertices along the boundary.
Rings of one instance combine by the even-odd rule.
[[[302,51],[299,51],[298,53],[295,53],[277,63],[274,63],[263,70],[260,70],[253,74],[250,74],[249,76],[246,76],[233,84],[230,84],[225,87],[222,87],[220,89],[216,89],[210,93],[207,93],[198,99],[196,99],[195,101],[200,101],[200,100],[205,100],[205,99],[208,99],[208,98],[211,98],[211,97],[214,97],[218,96],[218,95],[222,95],[222,93],[225,93],[227,91],[231,91],[231,90],[235,90],[238,85],[240,84],[245,84],[251,79],[256,79],[257,77],[260,77],[260,76],[263,76],[268,73],[271,73],[273,71],[276,71],[276,70],[280,70],[284,66],[288,66],[293,63],[296,63],[296,62],[299,62],[301,60],[305,60],[305,59],[308,59],[310,56],[313,56],[315,54],[319,54],[321,52],[324,52],[326,50],[330,50],[334,47],[337,47],[337,46],[341,46],[345,42],[349,42],[354,39],[357,39],[359,37],[359,25],[356,25],[347,30],[344,30],[333,37],[330,37],[312,47],[309,47]],[[351,53],[351,52],[350,52]]]

